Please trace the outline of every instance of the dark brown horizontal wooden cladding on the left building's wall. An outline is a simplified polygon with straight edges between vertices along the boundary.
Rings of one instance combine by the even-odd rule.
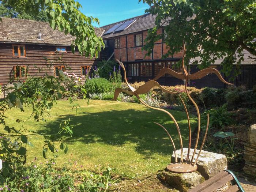
[[[13,57],[12,45],[9,43],[0,43],[0,83],[3,85],[9,82],[10,77],[13,77],[13,67],[16,65],[28,67],[28,76],[44,75],[45,72],[38,73],[38,70],[34,67],[36,65],[38,68],[46,68],[44,57],[50,61],[57,60],[61,57],[61,61],[63,61],[63,63],[54,63],[51,68],[48,68],[46,72],[49,75],[54,75],[54,66],[65,65],[65,71],[74,72],[76,75],[81,76],[81,66],[90,66],[91,68],[97,65],[97,62],[100,60],[80,56],[78,51],[73,54],[70,46],[61,46],[66,47],[67,52],[57,53],[57,46],[36,44],[26,44],[26,57],[17,58]]]

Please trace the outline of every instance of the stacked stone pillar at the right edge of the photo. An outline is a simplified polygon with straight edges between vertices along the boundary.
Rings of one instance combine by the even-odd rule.
[[[251,125],[248,131],[248,143],[245,144],[244,172],[248,175],[256,175],[256,124]]]

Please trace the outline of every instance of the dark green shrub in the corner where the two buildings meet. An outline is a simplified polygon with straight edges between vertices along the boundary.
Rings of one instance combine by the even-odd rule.
[[[114,60],[109,60],[109,61],[99,61],[97,63],[98,69],[99,69],[99,77],[109,79],[110,75],[109,73],[112,73],[113,68],[115,67],[116,69],[118,68],[118,63],[116,63]]]

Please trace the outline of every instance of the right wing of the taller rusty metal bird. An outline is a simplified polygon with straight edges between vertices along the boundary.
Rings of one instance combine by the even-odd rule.
[[[229,85],[233,85],[233,83],[229,83],[229,82],[226,82],[223,77],[221,76],[221,74],[219,73],[219,71],[215,68],[206,68],[206,69],[203,69],[201,71],[197,71],[196,73],[194,74],[190,74],[188,75],[188,79],[201,79],[203,78],[204,76],[208,75],[208,74],[216,74],[218,76],[218,78],[223,82],[223,83],[226,83],[226,84],[229,84]]]

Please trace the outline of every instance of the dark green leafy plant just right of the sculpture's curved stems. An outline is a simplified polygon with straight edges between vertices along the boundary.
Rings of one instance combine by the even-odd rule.
[[[202,113],[202,120],[204,123],[207,121],[207,114],[209,113],[210,123],[209,127],[223,128],[227,125],[234,123],[231,113],[227,111],[227,104],[217,108],[210,109]]]

